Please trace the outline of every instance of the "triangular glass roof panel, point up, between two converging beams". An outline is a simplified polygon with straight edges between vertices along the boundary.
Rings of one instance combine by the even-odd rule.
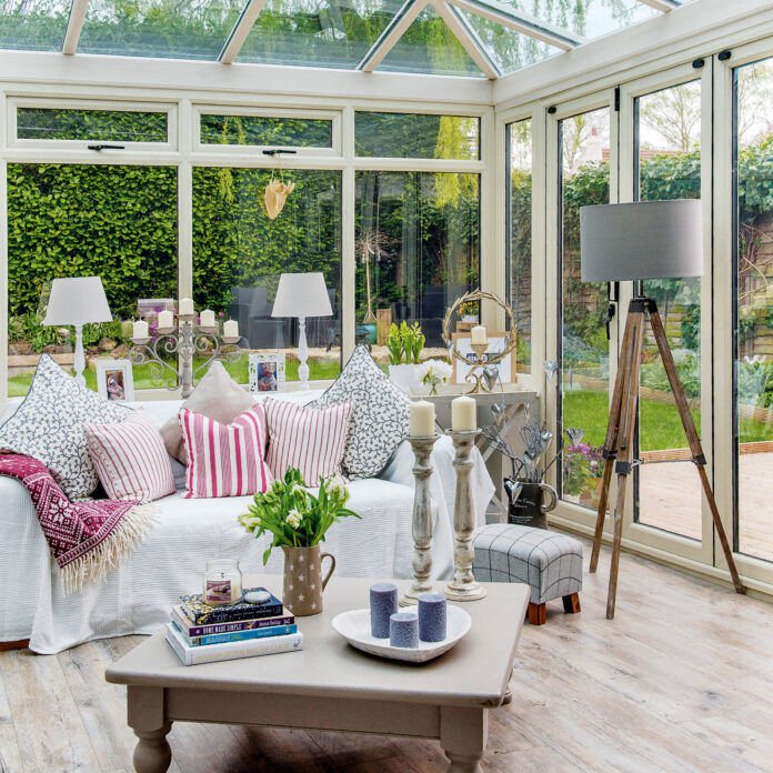
[[[432,6],[428,6],[419,14],[378,69],[434,76],[484,77]]]

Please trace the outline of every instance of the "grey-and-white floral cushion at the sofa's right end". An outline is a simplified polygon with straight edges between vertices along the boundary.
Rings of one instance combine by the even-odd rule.
[[[328,408],[351,400],[343,471],[351,480],[374,478],[394,449],[408,436],[411,401],[375,364],[360,344],[335,383],[310,408]]]

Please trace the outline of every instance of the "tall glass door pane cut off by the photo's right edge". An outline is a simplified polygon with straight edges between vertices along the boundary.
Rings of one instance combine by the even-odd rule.
[[[773,58],[735,70],[736,546],[773,561]]]

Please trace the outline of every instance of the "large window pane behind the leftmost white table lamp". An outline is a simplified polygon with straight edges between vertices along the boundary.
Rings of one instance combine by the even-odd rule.
[[[100,357],[126,358],[131,320],[177,298],[177,170],[169,167],[9,164],[8,391],[29,390],[38,355],[72,364],[73,329],[43,327],[51,280],[98,275],[114,321],[88,324],[87,384]],[[134,389],[154,386],[148,365]]]

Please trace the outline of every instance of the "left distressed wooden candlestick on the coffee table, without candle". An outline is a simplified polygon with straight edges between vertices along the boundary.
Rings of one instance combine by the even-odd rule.
[[[413,448],[413,476],[416,484],[413,493],[413,583],[400,599],[401,606],[419,603],[422,593],[432,592],[432,501],[430,496],[430,476],[432,465],[430,455],[439,435],[413,438],[408,440]]]

